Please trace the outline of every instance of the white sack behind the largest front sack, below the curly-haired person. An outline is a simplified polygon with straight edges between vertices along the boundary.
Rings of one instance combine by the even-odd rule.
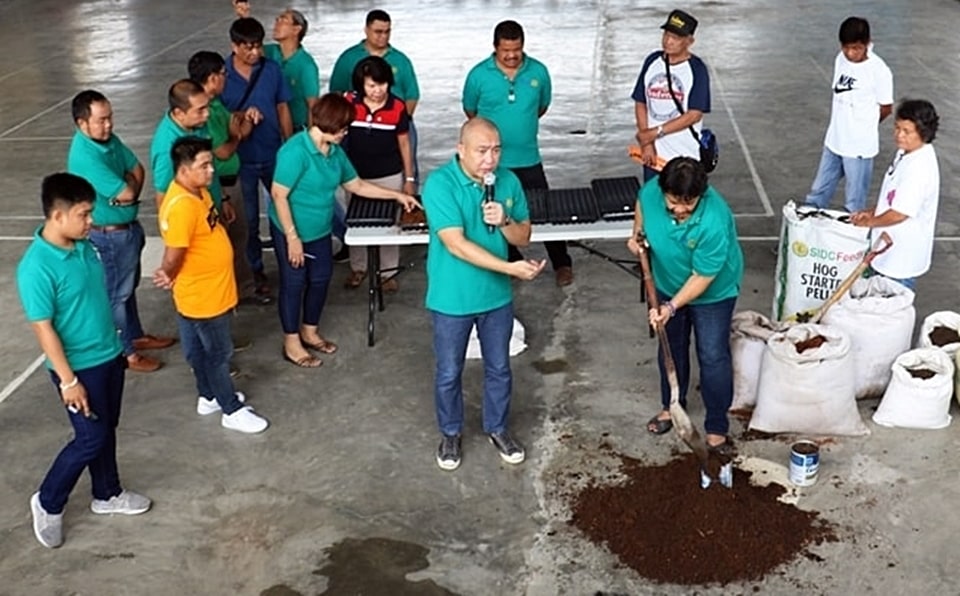
[[[917,317],[913,300],[913,290],[875,275],[855,281],[824,316],[825,325],[850,336],[857,399],[882,396],[894,360],[910,349]]]

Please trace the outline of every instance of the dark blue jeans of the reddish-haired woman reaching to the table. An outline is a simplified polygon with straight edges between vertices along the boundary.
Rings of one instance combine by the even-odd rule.
[[[277,226],[270,224],[273,251],[277,255],[277,270],[280,272],[280,291],[277,309],[280,311],[280,326],[287,335],[300,332],[300,322],[316,326],[320,323],[323,305],[327,302],[327,289],[333,277],[333,243],[330,234],[317,240],[303,243],[305,257],[301,267],[294,267],[287,259],[287,237]]]

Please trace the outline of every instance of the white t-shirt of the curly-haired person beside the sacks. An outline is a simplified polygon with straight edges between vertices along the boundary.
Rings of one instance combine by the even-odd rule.
[[[894,209],[907,216],[902,222],[876,228],[890,234],[893,246],[873,260],[873,268],[896,279],[923,275],[933,257],[933,235],[940,202],[940,166],[933,145],[904,153],[897,151],[883,175],[874,215]]]

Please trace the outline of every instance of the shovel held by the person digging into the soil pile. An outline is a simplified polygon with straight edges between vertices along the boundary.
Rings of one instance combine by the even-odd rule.
[[[640,245],[640,268],[643,270],[643,283],[647,288],[647,301],[650,308],[659,310],[660,301],[657,299],[657,290],[653,283],[653,272],[650,269],[650,257],[648,251],[650,245],[646,237],[642,234],[637,239]],[[673,420],[673,426],[677,429],[677,434],[683,439],[683,442],[693,450],[697,459],[700,460],[700,486],[707,488],[713,482],[707,471],[707,463],[710,454],[707,452],[707,443],[694,428],[690,422],[687,411],[680,405],[680,382],[677,380],[677,366],[673,362],[673,354],[670,352],[670,342],[667,340],[667,331],[664,325],[657,326],[657,337],[660,339],[660,350],[663,352],[663,368],[667,373],[667,383],[670,385],[670,418]],[[730,488],[733,485],[733,463],[726,462],[720,469],[718,479],[723,486]]]

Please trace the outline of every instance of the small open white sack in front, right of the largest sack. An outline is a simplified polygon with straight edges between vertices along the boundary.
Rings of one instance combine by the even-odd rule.
[[[910,369],[932,371],[929,379],[916,378]],[[883,426],[902,428],[945,428],[950,425],[950,397],[953,395],[954,365],[938,348],[917,348],[901,354],[893,363],[893,379],[873,414]]]

